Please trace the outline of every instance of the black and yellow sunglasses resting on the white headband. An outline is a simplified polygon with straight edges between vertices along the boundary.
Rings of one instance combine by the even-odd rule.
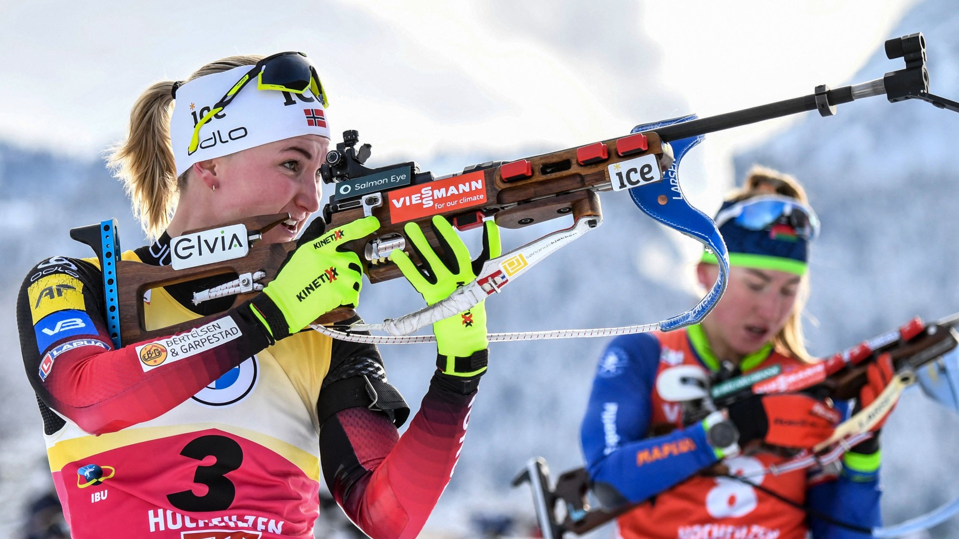
[[[256,79],[256,87],[260,90],[278,90],[302,94],[310,88],[313,95],[323,104],[329,106],[329,100],[326,99],[326,92],[323,85],[319,82],[319,76],[316,74],[316,67],[310,63],[303,53],[288,52],[270,55],[265,59],[256,62],[246,75],[240,78],[233,86],[223,94],[220,101],[213,105],[209,112],[203,115],[197,122],[197,127],[193,129],[193,139],[190,140],[189,152],[197,151],[199,147],[199,129],[210,121],[216,114],[219,114],[226,105],[229,105],[240,90],[246,84]]]

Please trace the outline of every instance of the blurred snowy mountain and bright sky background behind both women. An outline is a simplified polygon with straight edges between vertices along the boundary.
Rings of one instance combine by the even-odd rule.
[[[53,254],[88,256],[72,226],[120,220],[141,245],[120,186],[99,152],[123,135],[150,82],[186,77],[211,59],[302,50],[330,88],[334,129],[359,129],[371,164],[414,159],[437,174],[610,138],[633,125],[726,112],[881,77],[901,68],[885,38],[923,31],[933,93],[959,97],[959,16],[949,0],[650,3],[253,2],[145,5],[0,3],[0,534],[49,482],[34,395],[24,380],[13,300],[25,271]],[[904,14],[904,17],[901,16]],[[901,19],[901,20],[900,20]],[[144,21],[150,21],[144,27]],[[717,24],[721,21],[721,24]],[[814,114],[814,113],[813,113]],[[959,116],[882,98],[818,115],[709,135],[684,162],[689,198],[712,213],[753,162],[807,185],[824,223],[813,254],[810,349],[828,354],[894,327],[959,310],[950,218]],[[755,147],[755,148],[753,148]],[[733,158],[734,155],[737,157]],[[493,331],[599,327],[662,319],[694,301],[698,246],[603,197],[606,224],[488,302]],[[563,221],[513,232],[518,246]],[[473,238],[476,241],[476,238]],[[362,312],[382,319],[420,305],[409,286],[366,287]],[[428,524],[475,533],[470,517],[529,521],[528,489],[509,480],[532,456],[554,473],[581,465],[578,423],[602,340],[494,344],[456,476]],[[433,348],[384,351],[414,408]],[[884,445],[883,512],[898,522],[959,494],[949,451],[957,418],[909,393]],[[522,531],[518,529],[517,531]],[[596,533],[611,536],[610,528]],[[954,537],[947,524],[933,537]]]

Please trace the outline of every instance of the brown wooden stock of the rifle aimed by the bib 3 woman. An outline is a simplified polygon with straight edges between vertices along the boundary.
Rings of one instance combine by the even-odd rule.
[[[625,139],[628,139],[628,144],[631,145],[631,148],[629,150],[621,149],[622,154],[620,154],[618,151],[618,149],[620,149],[620,142]],[[637,144],[637,141],[641,144]],[[596,162],[581,163],[578,158],[577,149],[575,148],[527,157],[521,161],[528,163],[529,174],[522,178],[504,178],[503,167],[500,164],[490,164],[485,168],[480,166],[467,170],[461,175],[451,176],[454,182],[456,181],[456,176],[465,176],[474,173],[474,176],[471,176],[474,181],[477,178],[475,173],[479,173],[482,176],[482,193],[485,201],[479,205],[470,206],[465,211],[462,206],[457,206],[449,211],[437,210],[424,217],[404,220],[393,215],[388,196],[385,196],[388,195],[388,192],[384,192],[384,194],[380,196],[379,204],[375,206],[363,205],[363,202],[368,198],[368,196],[365,195],[360,199],[348,200],[346,203],[335,202],[331,198],[330,203],[324,209],[324,219],[327,223],[326,228],[327,230],[336,229],[336,227],[346,223],[363,219],[367,214],[374,215],[380,220],[381,227],[375,233],[366,238],[351,241],[345,245],[345,248],[352,250],[359,256],[363,264],[363,272],[366,273],[369,281],[371,283],[378,283],[403,275],[400,269],[386,258],[389,254],[388,251],[377,252],[372,248],[378,241],[402,238],[404,250],[409,254],[410,258],[417,264],[422,263],[422,260],[419,259],[416,252],[409,248],[409,239],[406,237],[404,231],[404,225],[406,223],[418,223],[430,245],[433,246],[437,252],[443,253],[443,246],[436,239],[433,234],[433,229],[429,226],[433,215],[440,215],[449,219],[460,229],[480,226],[483,218],[490,216],[495,219],[497,224],[504,228],[520,228],[532,223],[542,223],[566,215],[572,215],[573,219],[591,216],[601,217],[602,210],[596,192],[609,191],[612,189],[606,173],[607,166],[649,154],[656,155],[661,173],[672,164],[671,150],[668,145],[664,147],[661,144],[659,135],[655,132],[642,135],[627,135],[619,139],[609,139],[589,146],[598,152],[597,145],[601,145],[604,148],[606,156]],[[440,180],[436,181],[442,181],[444,179],[448,178],[440,178]],[[423,181],[414,185],[422,185],[422,187],[426,188],[431,186],[429,184],[430,181]],[[255,216],[229,223],[221,223],[215,227],[189,230],[184,232],[183,235],[186,236],[210,228],[220,228],[233,224],[244,224],[248,232],[259,231],[262,235],[273,226],[289,218],[290,216],[288,214]],[[90,235],[91,238],[93,236],[93,234]],[[93,240],[82,241],[91,244]],[[120,311],[120,327],[123,342],[132,343],[172,335],[222,316],[222,313],[220,313],[217,315],[203,316],[172,326],[147,329],[144,320],[143,306],[143,296],[147,291],[216,275],[243,275],[255,271],[263,271],[266,273],[264,278],[257,281],[265,285],[276,277],[276,273],[283,264],[283,261],[286,260],[289,253],[295,247],[295,242],[263,246],[260,245],[258,240],[253,240],[250,242],[248,254],[244,257],[178,270],[173,269],[171,266],[156,267],[132,261],[118,261],[118,308]],[[255,292],[236,294],[232,307],[237,307],[244,301],[252,298],[255,294]],[[352,316],[356,316],[356,312],[353,309],[339,308],[320,316],[317,318],[316,323],[331,324]]]

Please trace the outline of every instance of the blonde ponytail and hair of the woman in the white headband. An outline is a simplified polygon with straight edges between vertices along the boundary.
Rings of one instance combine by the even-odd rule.
[[[253,65],[260,59],[263,57],[255,55],[219,59],[199,68],[184,82],[241,65]],[[156,82],[137,98],[129,113],[127,139],[111,148],[106,156],[107,166],[123,181],[133,216],[151,240],[162,234],[170,223],[179,190],[186,185],[190,174],[187,171],[176,177],[170,142],[174,83]]]

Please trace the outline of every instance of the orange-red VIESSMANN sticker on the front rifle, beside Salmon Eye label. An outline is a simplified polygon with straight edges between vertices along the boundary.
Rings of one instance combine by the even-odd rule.
[[[486,202],[482,171],[389,192],[389,223],[405,223]]]

